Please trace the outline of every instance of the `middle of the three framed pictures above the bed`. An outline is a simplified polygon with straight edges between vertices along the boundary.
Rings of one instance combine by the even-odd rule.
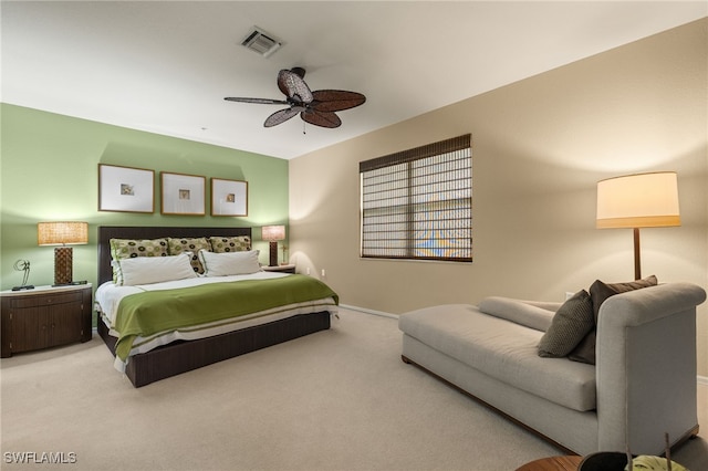
[[[163,214],[204,216],[207,178],[196,175],[159,174]]]

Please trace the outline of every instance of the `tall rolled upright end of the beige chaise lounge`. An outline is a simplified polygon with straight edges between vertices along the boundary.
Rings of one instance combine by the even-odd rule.
[[[598,444],[660,454],[695,430],[696,306],[706,292],[667,283],[616,294],[600,308],[596,337]]]

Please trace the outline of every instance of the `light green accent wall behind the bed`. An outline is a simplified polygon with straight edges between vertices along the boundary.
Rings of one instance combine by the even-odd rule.
[[[31,263],[30,284],[53,283],[53,248],[37,244],[41,221],[88,222],[88,244],[73,245],[74,280],[94,289],[98,226],[250,226],[268,263],[260,227],[288,224],[285,159],[8,104],[0,113],[1,290],[21,284],[18,259]],[[155,212],[98,211],[98,164],[155,170]],[[207,177],[206,214],[160,214],[160,171]],[[211,177],[248,181],[247,217],[209,216]]]

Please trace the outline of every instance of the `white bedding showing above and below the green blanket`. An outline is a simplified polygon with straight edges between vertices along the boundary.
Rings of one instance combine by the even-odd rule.
[[[118,336],[118,333],[115,331],[115,316],[117,314],[118,304],[121,300],[127,295],[147,292],[147,291],[162,291],[162,290],[174,290],[179,287],[189,287],[197,286],[209,283],[227,283],[233,281],[242,281],[242,280],[268,280],[289,276],[287,273],[278,273],[278,272],[257,272],[246,275],[231,275],[231,276],[199,276],[187,280],[178,280],[178,281],[169,281],[164,283],[154,283],[154,284],[144,284],[136,286],[118,286],[113,282],[103,283],[96,290],[95,294],[95,308],[100,313],[100,322],[103,322],[108,327],[110,335],[115,337]],[[313,314],[322,311],[329,311],[330,314],[337,314],[336,303],[332,297],[326,297],[323,300],[309,301],[303,303],[290,304],[287,306],[279,306],[268,311],[261,311],[252,314],[248,314],[244,316],[238,317],[238,321],[227,322],[223,321],[215,322],[211,324],[202,324],[195,327],[189,327],[179,331],[171,332],[162,332],[156,335],[153,335],[148,338],[146,337],[137,337],[134,342],[134,347],[131,350],[127,362],[129,362],[129,357],[133,355],[142,354],[149,352],[158,346],[167,345],[177,339],[184,341],[194,341],[198,338],[207,338],[215,335],[226,334],[229,332],[235,332],[241,328],[251,327],[259,324],[266,324],[273,321],[279,321],[282,318],[288,318],[294,315],[300,314]],[[114,366],[118,371],[125,371],[125,365],[127,362],[121,360],[116,356]]]

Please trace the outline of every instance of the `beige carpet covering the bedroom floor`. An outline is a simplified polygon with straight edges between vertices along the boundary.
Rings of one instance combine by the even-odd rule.
[[[139,389],[95,335],[3,359],[0,380],[3,470],[509,471],[560,454],[400,362],[395,318],[347,310],[330,331]],[[706,469],[708,443],[674,458]]]

